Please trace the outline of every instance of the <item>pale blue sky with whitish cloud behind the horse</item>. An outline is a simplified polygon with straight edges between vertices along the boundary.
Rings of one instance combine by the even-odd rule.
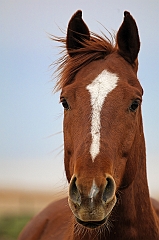
[[[117,31],[125,10],[140,34],[138,78],[144,88],[143,122],[148,183],[159,193],[159,1],[0,1],[0,188],[67,188],[63,167],[63,108],[54,94],[60,48],[49,34],[65,36],[81,9],[93,32]]]

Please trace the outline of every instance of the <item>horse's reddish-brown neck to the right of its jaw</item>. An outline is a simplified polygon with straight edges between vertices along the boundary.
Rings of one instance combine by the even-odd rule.
[[[141,135],[140,135],[141,136]],[[133,161],[138,162],[136,175],[132,184],[121,190],[116,206],[114,229],[121,239],[159,239],[159,220],[152,207],[147,184],[146,154],[144,136],[134,148]],[[116,239],[112,237],[111,239]]]

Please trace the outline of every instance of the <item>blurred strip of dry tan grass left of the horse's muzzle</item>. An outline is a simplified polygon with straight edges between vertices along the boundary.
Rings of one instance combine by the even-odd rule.
[[[0,217],[36,214],[50,202],[66,196],[66,192],[37,192],[0,189]]]

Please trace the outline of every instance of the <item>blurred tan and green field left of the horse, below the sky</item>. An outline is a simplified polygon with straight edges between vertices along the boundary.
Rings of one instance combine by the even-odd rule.
[[[0,240],[16,240],[36,213],[65,195],[65,192],[0,189]]]

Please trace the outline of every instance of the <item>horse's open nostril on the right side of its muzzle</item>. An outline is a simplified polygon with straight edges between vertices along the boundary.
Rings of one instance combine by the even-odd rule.
[[[109,202],[112,200],[112,197],[114,196],[115,193],[115,182],[112,177],[107,177],[106,178],[106,187],[103,192],[103,201],[104,202]]]

